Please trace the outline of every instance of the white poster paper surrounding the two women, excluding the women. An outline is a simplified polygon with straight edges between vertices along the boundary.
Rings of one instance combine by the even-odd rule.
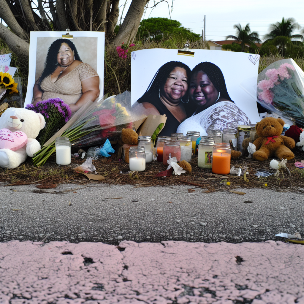
[[[196,65],[203,62],[210,62],[221,70],[224,82],[226,83],[226,91],[231,101],[247,115],[250,123],[255,124],[257,121],[260,121],[256,103],[260,55],[220,50],[191,51],[195,52],[194,57],[179,55],[178,50],[173,49],[147,49],[132,52],[132,104],[145,94],[150,84],[153,83],[157,71],[164,64],[171,61],[179,61],[187,65],[192,71]],[[188,92],[189,87],[190,81],[188,83]],[[189,102],[191,102],[191,100],[189,100]],[[190,103],[188,103],[188,105],[189,104]],[[183,106],[186,108],[188,105],[185,103]],[[163,113],[160,114],[162,115]],[[167,119],[166,124],[168,123],[170,123],[170,119]]]

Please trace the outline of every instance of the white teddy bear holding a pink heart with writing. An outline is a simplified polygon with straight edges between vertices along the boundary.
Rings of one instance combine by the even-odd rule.
[[[40,113],[8,108],[0,117],[0,167],[16,168],[40,150],[36,140],[45,126]]]

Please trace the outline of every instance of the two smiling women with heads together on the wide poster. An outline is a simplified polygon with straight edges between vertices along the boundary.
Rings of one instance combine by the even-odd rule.
[[[168,117],[161,136],[186,135],[189,130],[207,136],[209,129],[251,123],[230,98],[221,69],[211,62],[201,62],[192,71],[180,61],[165,63],[137,101]]]

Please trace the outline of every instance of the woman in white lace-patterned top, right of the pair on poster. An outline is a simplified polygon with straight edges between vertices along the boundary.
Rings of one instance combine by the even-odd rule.
[[[211,62],[198,64],[191,73],[189,100],[196,106],[194,114],[178,126],[177,132],[194,130],[207,136],[210,129],[237,129],[250,124],[249,118],[231,100],[220,68]]]

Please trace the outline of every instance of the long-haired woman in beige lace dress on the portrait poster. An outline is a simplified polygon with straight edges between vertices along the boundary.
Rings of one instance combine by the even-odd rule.
[[[99,76],[81,62],[71,40],[55,40],[47,53],[44,70],[33,88],[33,105],[48,98],[61,98],[72,112],[99,96]]]

